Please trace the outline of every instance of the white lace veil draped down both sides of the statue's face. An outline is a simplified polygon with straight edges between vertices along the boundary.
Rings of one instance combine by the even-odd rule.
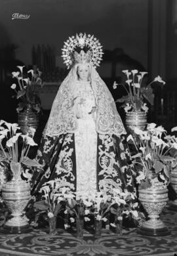
[[[100,134],[126,134],[108,87],[90,64],[90,82],[96,99],[96,131]],[[77,118],[73,110],[73,91],[77,83],[77,64],[64,79],[52,104],[49,120],[43,135],[50,137],[77,130]]]

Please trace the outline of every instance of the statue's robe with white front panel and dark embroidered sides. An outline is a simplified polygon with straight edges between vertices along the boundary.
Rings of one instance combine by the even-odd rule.
[[[43,169],[33,174],[32,194],[50,180],[90,195],[105,186],[135,192],[125,135],[96,133],[96,101],[89,82],[78,81],[75,86],[73,109],[78,123],[75,133],[41,139],[37,160]]]

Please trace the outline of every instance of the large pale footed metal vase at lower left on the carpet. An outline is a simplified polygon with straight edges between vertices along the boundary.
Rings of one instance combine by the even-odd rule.
[[[20,168],[20,164],[16,164]],[[11,181],[6,182],[2,188],[2,198],[7,205],[11,215],[7,219],[1,232],[18,234],[31,231],[24,209],[31,198],[30,184],[21,179],[21,172],[18,170]]]

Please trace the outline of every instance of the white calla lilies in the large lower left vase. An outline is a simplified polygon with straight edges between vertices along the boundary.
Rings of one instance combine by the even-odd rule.
[[[28,158],[31,146],[37,144],[33,140],[35,129],[30,128],[28,134],[18,133],[20,127],[17,123],[7,123],[0,121],[0,162],[10,167],[14,180],[21,179],[21,175],[30,179],[30,173],[22,171],[22,167],[40,167],[36,160]]]

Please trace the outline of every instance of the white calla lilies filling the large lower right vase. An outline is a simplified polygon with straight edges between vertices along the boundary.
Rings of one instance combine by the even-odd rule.
[[[147,124],[146,131],[138,127],[132,127],[134,137],[129,135],[127,141],[132,140],[137,154],[132,156],[134,164],[138,169],[136,181],[142,188],[151,187],[155,177],[164,184],[169,182],[169,163],[174,158],[169,156],[172,148],[177,148],[177,140],[172,140],[167,131],[155,123]]]

